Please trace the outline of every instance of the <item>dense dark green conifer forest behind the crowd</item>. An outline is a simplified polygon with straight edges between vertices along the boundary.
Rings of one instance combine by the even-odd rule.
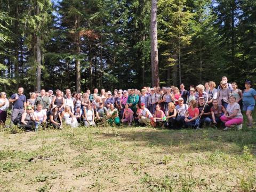
[[[151,1],[0,0],[0,89],[151,86]],[[256,1],[158,0],[161,86],[256,80]]]

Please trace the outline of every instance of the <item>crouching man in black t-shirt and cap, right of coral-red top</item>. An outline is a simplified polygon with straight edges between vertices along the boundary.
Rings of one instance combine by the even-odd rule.
[[[208,104],[205,105],[205,99],[204,97],[199,97],[199,104],[198,104],[198,109],[199,109],[199,116],[201,116],[200,122],[199,122],[199,127],[202,128],[203,124],[205,123],[206,126],[209,126],[211,123],[211,108]],[[203,110],[204,108],[204,110]]]

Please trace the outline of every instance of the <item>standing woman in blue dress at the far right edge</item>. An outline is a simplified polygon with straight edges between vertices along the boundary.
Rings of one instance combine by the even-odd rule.
[[[247,127],[252,128],[252,111],[255,107],[256,91],[251,88],[251,81],[246,80],[244,83],[245,90],[243,94],[243,111],[246,111]]]

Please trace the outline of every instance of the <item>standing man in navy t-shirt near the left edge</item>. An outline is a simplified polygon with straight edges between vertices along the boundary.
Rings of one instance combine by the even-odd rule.
[[[23,87],[19,87],[18,94],[15,93],[11,96],[9,99],[9,102],[13,103],[13,109],[12,109],[12,116],[11,116],[11,123],[12,126],[14,119],[17,118],[18,114],[22,114],[24,111],[26,111],[27,107],[27,101],[26,96],[23,95]]]

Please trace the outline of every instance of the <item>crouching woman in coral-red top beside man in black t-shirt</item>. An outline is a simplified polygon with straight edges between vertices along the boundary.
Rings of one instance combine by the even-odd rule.
[[[188,110],[185,114],[185,127],[193,127],[195,126],[196,119],[199,115],[199,109],[197,108],[197,103],[195,100],[191,100],[189,102]]]

